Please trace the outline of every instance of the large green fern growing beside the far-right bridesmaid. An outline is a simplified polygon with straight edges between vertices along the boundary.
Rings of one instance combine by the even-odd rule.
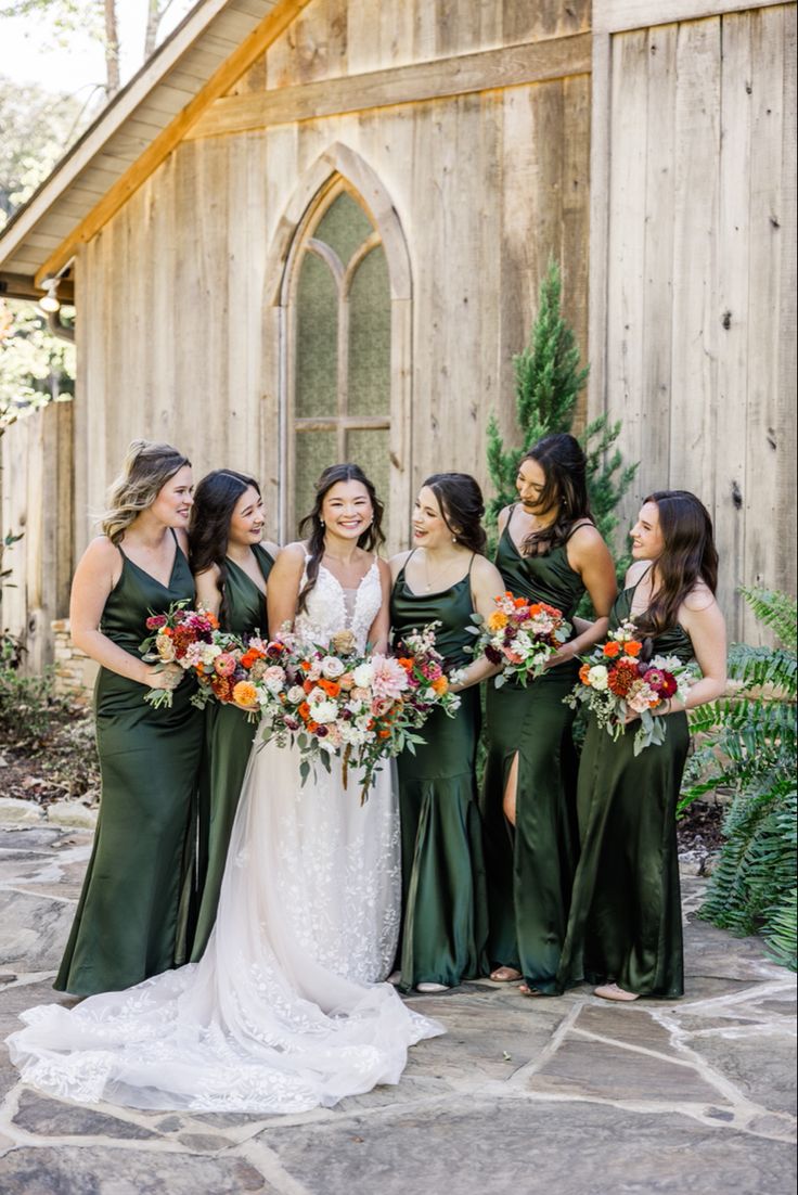
[[[743,589],[773,648],[733,644],[733,697],[690,713],[705,742],[690,759],[680,811],[731,790],[724,845],[700,915],[732,933],[761,932],[771,955],[796,969],[796,600]],[[692,783],[690,783],[692,782]]]

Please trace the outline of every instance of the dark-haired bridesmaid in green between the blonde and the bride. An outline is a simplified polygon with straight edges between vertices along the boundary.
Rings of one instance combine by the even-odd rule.
[[[189,541],[201,605],[233,635],[269,633],[266,581],[280,551],[260,543],[263,498],[252,477],[220,468],[197,485]],[[197,926],[191,962],[216,920],[227,847],[256,727],[233,705],[205,706],[205,754],[200,784]]]

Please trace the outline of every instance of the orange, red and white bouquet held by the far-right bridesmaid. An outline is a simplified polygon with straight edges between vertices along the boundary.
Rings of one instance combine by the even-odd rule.
[[[634,624],[628,621],[610,631],[606,643],[583,657],[579,681],[564,699],[572,709],[578,701],[587,703],[598,725],[614,740],[626,730],[627,711],[639,713],[640,725],[633,743],[636,755],[652,743],[664,742],[664,703],[670,697],[683,701],[695,679],[692,666],[682,663],[677,656],[642,660],[643,643],[638,636]]]

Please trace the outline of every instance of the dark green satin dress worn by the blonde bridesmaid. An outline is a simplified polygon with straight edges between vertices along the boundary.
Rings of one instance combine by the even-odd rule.
[[[162,586],[122,552],[122,575],[100,630],[131,656],[151,612],[195,600],[189,562],[177,546]],[[100,668],[94,688],[103,782],[94,847],[61,969],[60,992],[116,992],[185,962],[183,927],[191,889],[192,832],[203,717],[184,679],[171,709],[154,710],[147,688]]]

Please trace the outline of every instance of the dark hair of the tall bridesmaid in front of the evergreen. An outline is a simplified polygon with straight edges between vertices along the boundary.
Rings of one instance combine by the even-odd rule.
[[[541,531],[533,531],[521,545],[524,556],[542,556],[566,544],[575,523],[584,519],[593,522],[588,461],[579,441],[567,431],[554,431],[539,440],[521,458],[518,468],[524,460],[534,460],[544,471],[546,480],[538,498],[541,508],[557,508],[554,522]]]

